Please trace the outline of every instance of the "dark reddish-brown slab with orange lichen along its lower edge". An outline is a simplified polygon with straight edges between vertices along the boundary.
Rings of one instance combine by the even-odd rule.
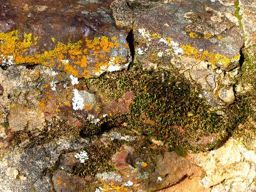
[[[42,64],[76,77],[121,70],[127,32],[108,1],[0,1],[0,64]]]

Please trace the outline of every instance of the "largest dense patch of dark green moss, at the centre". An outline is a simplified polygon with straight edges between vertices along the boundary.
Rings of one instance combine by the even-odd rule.
[[[127,126],[123,128],[135,135],[169,142],[170,148],[180,155],[188,149],[205,150],[207,146],[190,145],[204,136],[221,133],[221,138],[227,134],[222,117],[212,112],[207,103],[197,96],[194,87],[183,77],[175,76],[174,72],[143,71],[141,65],[133,64],[127,72],[102,75],[92,80],[90,85],[102,91],[109,89],[112,97],[132,90],[135,97],[130,113],[109,118],[109,122],[116,122],[116,125],[125,122]]]

